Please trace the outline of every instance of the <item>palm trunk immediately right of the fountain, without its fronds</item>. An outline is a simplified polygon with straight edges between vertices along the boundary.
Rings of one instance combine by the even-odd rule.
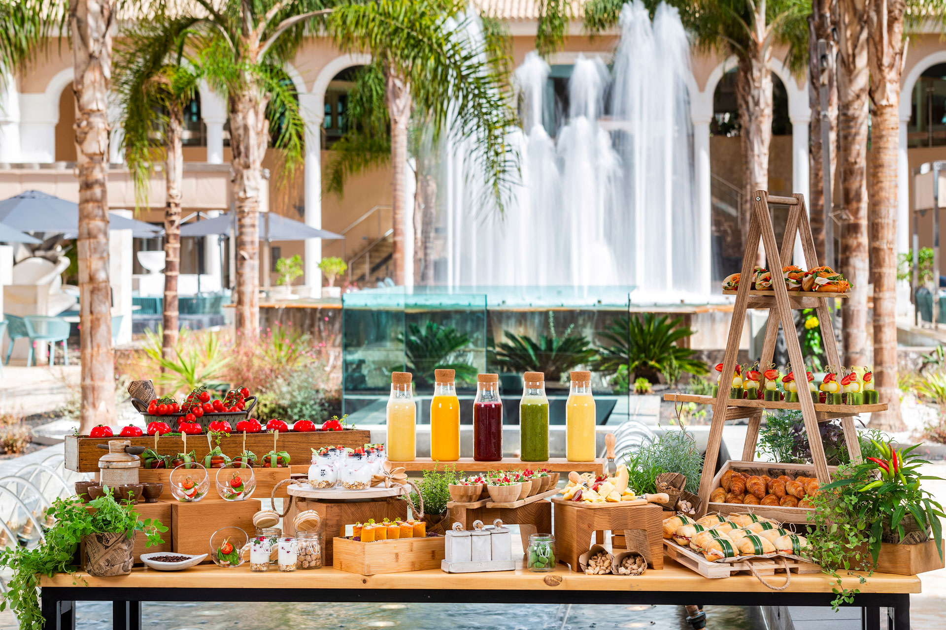
[[[768,190],[768,156],[772,143],[771,57],[769,48],[765,47],[757,55],[740,59],[736,75],[739,135],[743,146],[743,207],[740,209],[740,221],[744,248],[752,215],[753,193]]]

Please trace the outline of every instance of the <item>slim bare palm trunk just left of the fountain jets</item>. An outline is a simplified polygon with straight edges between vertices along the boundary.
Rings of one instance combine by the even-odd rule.
[[[394,282],[404,284],[406,261],[404,260],[404,229],[408,219],[408,196],[405,187],[405,166],[408,161],[408,122],[411,120],[411,86],[389,66],[387,77],[388,116],[391,118],[391,162],[392,162],[392,221],[394,223]]]

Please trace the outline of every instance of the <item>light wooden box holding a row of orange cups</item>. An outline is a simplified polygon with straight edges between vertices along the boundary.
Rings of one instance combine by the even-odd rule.
[[[361,575],[440,569],[446,540],[445,536],[435,536],[361,542],[337,537],[333,541],[332,566]]]

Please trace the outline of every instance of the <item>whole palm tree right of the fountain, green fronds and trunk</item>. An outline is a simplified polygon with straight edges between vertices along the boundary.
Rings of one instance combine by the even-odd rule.
[[[809,0],[667,0],[680,13],[683,26],[704,50],[737,60],[736,101],[743,146],[743,241],[749,229],[752,193],[768,189],[769,145],[772,140],[772,72],[775,46],[788,48],[786,65],[797,72],[808,55]],[[585,26],[592,33],[617,24],[624,2],[587,0]],[[653,12],[656,0],[644,4]],[[539,50],[551,51],[564,41],[571,4],[546,0],[539,16]]]

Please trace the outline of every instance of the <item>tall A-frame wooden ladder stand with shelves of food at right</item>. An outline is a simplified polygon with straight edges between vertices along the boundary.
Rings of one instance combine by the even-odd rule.
[[[828,300],[844,297],[836,293],[804,293],[788,292],[785,282],[781,281],[781,268],[792,263],[792,251],[795,247],[795,238],[801,238],[801,248],[804,252],[805,268],[814,269],[818,264],[815,253],[815,240],[812,237],[812,228],[808,223],[808,213],[805,212],[803,195],[769,196],[765,191],[756,191],[752,196],[752,217],[749,221],[749,232],[745,239],[743,254],[743,268],[740,275],[739,290],[736,291],[736,301],[732,309],[732,321],[729,325],[729,336],[726,345],[726,356],[723,360],[724,377],[731,375],[736,367],[736,356],[739,353],[739,339],[743,332],[745,311],[748,308],[769,311],[768,324],[765,328],[765,340],[762,344],[762,360],[760,366],[768,366],[775,353],[775,342],[781,325],[785,332],[785,343],[788,346],[788,358],[792,371],[804,374],[805,361],[801,354],[801,345],[795,334],[795,319],[793,309],[814,308],[821,328],[821,338],[828,355],[828,362],[832,366],[841,366],[837,343],[834,340],[831,311],[828,309]],[[788,222],[781,243],[781,250],[776,245],[775,230],[772,228],[772,218],[769,206],[789,206]],[[760,292],[752,289],[752,276],[756,263],[759,239],[762,238],[762,248],[765,260],[772,272],[773,291]],[[793,295],[795,294],[795,295]],[[789,333],[791,332],[791,333]],[[730,377],[731,378],[731,377]],[[804,383],[804,381],[799,381]],[[806,383],[807,384],[807,383]],[[693,397],[679,397],[674,394],[664,395],[665,400],[685,400]],[[873,405],[817,405],[808,396],[801,396],[798,403],[766,402],[764,400],[731,400],[729,387],[721,386],[715,400],[709,397],[697,397],[699,402],[712,402],[713,417],[710,425],[710,437],[707,443],[706,459],[703,464],[703,474],[700,478],[700,516],[706,514],[709,506],[710,491],[712,490],[713,472],[716,459],[719,457],[719,447],[723,439],[723,426],[727,419],[747,417],[748,430],[745,434],[745,447],[742,460],[753,461],[756,444],[759,441],[759,425],[762,422],[762,408],[785,409],[800,408],[804,418],[805,433],[809,436],[812,450],[812,461],[815,465],[815,475],[821,485],[831,481],[828,462],[825,458],[824,446],[819,439],[818,421],[826,421],[835,417],[841,418],[841,427],[844,429],[844,439],[852,460],[861,458],[861,446],[858,441],[857,430],[854,428],[854,416],[862,412],[884,411],[886,404]],[[705,400],[704,400],[705,399]],[[751,402],[752,404],[746,404]],[[814,438],[813,438],[814,436]],[[761,509],[755,509],[762,513]]]

